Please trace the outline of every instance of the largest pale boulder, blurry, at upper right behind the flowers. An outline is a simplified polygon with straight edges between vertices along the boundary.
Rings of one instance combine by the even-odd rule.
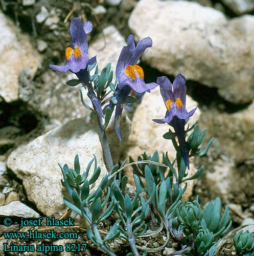
[[[149,26],[148,19],[153,21]],[[129,27],[138,39],[153,39],[143,55],[153,68],[218,88],[230,102],[253,99],[253,16],[227,20],[222,12],[197,3],[141,0]]]

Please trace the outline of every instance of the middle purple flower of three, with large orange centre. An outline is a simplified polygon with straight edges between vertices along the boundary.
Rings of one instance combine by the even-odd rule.
[[[144,93],[150,92],[157,86],[155,82],[145,83],[144,71],[136,65],[146,48],[151,46],[152,39],[150,37],[141,39],[135,47],[133,35],[128,36],[127,46],[123,47],[116,68],[119,89],[129,86],[136,93]]]

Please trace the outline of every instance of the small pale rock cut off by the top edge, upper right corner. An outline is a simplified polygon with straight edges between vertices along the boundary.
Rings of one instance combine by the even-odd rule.
[[[222,3],[238,15],[254,10],[253,0],[222,0]]]

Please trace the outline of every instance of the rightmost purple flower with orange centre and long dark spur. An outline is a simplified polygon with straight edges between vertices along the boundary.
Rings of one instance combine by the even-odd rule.
[[[186,79],[178,74],[172,83],[166,76],[157,78],[160,94],[163,97],[167,108],[166,116],[163,119],[153,119],[156,123],[171,123],[176,132],[181,155],[189,168],[189,151],[187,148],[184,132],[185,120],[190,118],[197,108],[188,113],[186,110]]]

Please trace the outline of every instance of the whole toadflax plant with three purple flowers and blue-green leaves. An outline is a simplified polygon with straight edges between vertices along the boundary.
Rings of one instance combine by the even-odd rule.
[[[81,84],[87,90],[92,106],[85,103],[82,88],[81,101],[85,108],[91,111],[90,117],[98,119],[99,136],[108,174],[100,183],[98,182],[101,169],[97,165],[96,156],[82,174],[78,155],[75,157],[74,168],[69,168],[66,164],[63,167],[60,165],[62,185],[67,191],[65,204],[86,219],[87,237],[108,255],[116,256],[108,245],[110,240],[121,238],[126,241],[129,244],[127,250],[131,249],[128,256],[140,256],[139,250],[143,250],[142,255],[145,256],[147,252],[165,248],[170,237],[182,245],[181,250],[169,254],[171,256],[214,255],[215,246],[221,235],[231,224],[228,208],[225,208],[221,217],[219,198],[210,202],[204,210],[200,208],[198,200],[181,203],[182,195],[187,189],[187,181],[199,178],[204,171],[204,166],[201,166],[194,175],[188,176],[189,158],[206,154],[213,141],[212,138],[204,150],[201,150],[200,145],[206,131],[199,132],[198,124],[190,128],[188,126],[187,130],[184,128],[196,111],[196,108],[190,112],[186,109],[186,79],[178,74],[173,84],[165,76],[158,77],[156,82],[146,83],[144,71],[138,65],[138,60],[147,48],[152,47],[152,39],[143,38],[135,45],[133,35],[129,35],[127,45],[123,47],[117,62],[116,81],[112,82],[111,64],[108,63],[99,73],[96,56],[88,57],[86,34],[91,32],[92,28],[90,22],[82,23],[81,19],[73,18],[70,26],[72,42],[65,51],[66,63],[64,66],[50,65],[50,68],[59,72],[71,71],[76,74],[77,79],[67,81],[68,86]],[[175,161],[171,162],[167,153],[163,154],[160,161],[159,154],[155,152],[153,156],[144,153],[137,161],[130,158],[127,165],[127,159],[121,166],[113,164],[105,132],[113,112],[114,129],[121,140],[120,120],[124,104],[135,102],[141,94],[150,93],[157,86],[166,106],[166,115],[163,119],[151,119],[156,123],[168,123],[173,127],[174,132],[169,129],[163,137],[172,140],[176,151]],[[188,132],[191,132],[189,136]],[[92,164],[94,172],[89,175]],[[133,168],[136,187],[132,196],[126,189],[128,177],[122,175],[122,170],[129,165]],[[118,220],[104,236],[100,233],[99,227],[112,214],[117,216]],[[148,231],[148,218],[160,227]],[[155,236],[163,228],[167,236],[164,245],[158,248],[136,245],[138,238]],[[236,238],[236,241],[237,248],[245,249],[244,237]],[[247,245],[250,248],[249,243]]]

